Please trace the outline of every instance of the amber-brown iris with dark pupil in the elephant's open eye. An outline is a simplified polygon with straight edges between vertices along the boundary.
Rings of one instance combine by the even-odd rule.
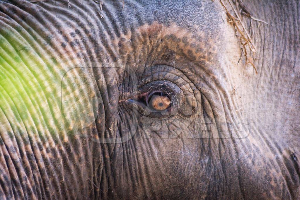
[[[171,100],[167,94],[155,92],[149,96],[147,104],[153,110],[164,111],[170,108]]]

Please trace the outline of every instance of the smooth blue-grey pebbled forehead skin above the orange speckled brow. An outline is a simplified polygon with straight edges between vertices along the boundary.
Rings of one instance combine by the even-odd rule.
[[[175,22],[180,28],[193,31],[194,25],[208,31],[219,29],[222,22],[222,9],[220,5],[211,1],[140,1],[132,3],[126,1],[122,14],[127,17],[123,24],[143,24],[158,23],[169,27]],[[116,9],[116,7],[114,7]],[[122,15],[120,13],[120,15]],[[125,22],[125,23],[124,23]]]

